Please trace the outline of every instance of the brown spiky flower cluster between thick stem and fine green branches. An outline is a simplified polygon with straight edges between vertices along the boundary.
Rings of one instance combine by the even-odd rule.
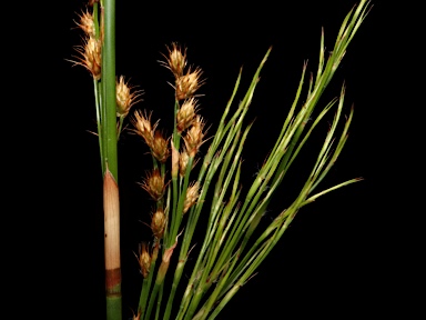
[[[165,61],[161,61],[161,64],[168,68],[174,77],[174,86],[172,86],[175,98],[175,126],[173,128],[173,136],[165,138],[162,131],[158,130],[159,121],[153,122],[151,120],[152,112],[148,113],[146,111],[136,110],[134,117],[131,119],[134,128],[133,131],[143,138],[150,148],[154,162],[154,168],[148,171],[145,179],[141,183],[141,187],[150,194],[151,199],[156,202],[155,210],[151,214],[150,224],[154,238],[154,246],[159,246],[163,237],[176,237],[173,232],[178,232],[181,220],[175,214],[183,217],[199,201],[201,192],[199,181],[192,181],[190,183],[186,180],[186,182],[176,183],[176,180],[180,179],[182,182],[189,179],[189,170],[192,170],[196,164],[197,161],[195,157],[205,137],[205,122],[203,118],[197,114],[199,104],[195,99],[196,91],[204,83],[204,81],[201,80],[202,70],[200,68],[186,68],[186,50],[182,50],[179,44],[173,42],[170,48],[168,47],[168,51],[169,54],[163,54]],[[124,80],[120,78],[119,83],[124,83]],[[125,92],[125,88],[121,88],[118,92]],[[125,98],[118,96],[118,104],[120,101],[123,101],[123,104],[126,102]],[[123,107],[124,112],[128,110],[125,106]],[[169,158],[172,158],[171,179],[168,178],[165,169]],[[169,182],[168,179],[173,183]],[[173,192],[176,191],[174,194],[183,197],[176,202],[173,202],[173,208],[169,207],[171,206],[170,199],[165,199],[168,186],[174,190]],[[165,233],[169,236],[164,236]],[[173,236],[170,233],[173,233]],[[163,253],[160,270],[166,268],[165,266],[168,266],[169,262],[165,258],[173,252],[173,247],[168,248],[165,252],[169,253]],[[148,258],[142,260],[142,262],[140,261],[144,277],[144,266],[148,264],[143,262],[145,260],[148,260]]]

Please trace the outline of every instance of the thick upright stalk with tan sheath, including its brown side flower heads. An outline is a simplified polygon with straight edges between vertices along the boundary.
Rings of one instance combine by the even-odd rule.
[[[84,67],[93,78],[103,176],[106,319],[118,320],[122,307],[116,142],[141,91],[134,91],[124,77],[115,78],[115,0],[90,0],[88,9],[77,22],[85,38],[72,62]]]

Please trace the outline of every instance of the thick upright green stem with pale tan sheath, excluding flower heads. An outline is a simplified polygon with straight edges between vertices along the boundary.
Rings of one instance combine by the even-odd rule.
[[[101,2],[102,46],[102,157],[104,177],[105,216],[105,273],[106,319],[122,319],[121,263],[120,263],[120,210],[118,191],[116,107],[115,107],[115,0]],[[105,180],[108,179],[108,180]],[[109,192],[105,193],[105,190]],[[112,207],[114,203],[116,208]],[[111,213],[112,212],[112,213]],[[113,214],[113,216],[112,216]],[[108,218],[108,219],[106,219]],[[106,223],[110,221],[109,223]],[[111,222],[112,221],[112,222]],[[106,237],[114,236],[114,241]]]

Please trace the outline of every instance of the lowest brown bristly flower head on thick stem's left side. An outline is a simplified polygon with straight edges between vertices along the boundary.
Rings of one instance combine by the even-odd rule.
[[[101,51],[102,44],[94,37],[88,37],[83,46],[75,47],[75,51],[81,57],[75,57],[78,61],[71,60],[74,66],[82,66],[92,73],[95,80],[101,79]]]

